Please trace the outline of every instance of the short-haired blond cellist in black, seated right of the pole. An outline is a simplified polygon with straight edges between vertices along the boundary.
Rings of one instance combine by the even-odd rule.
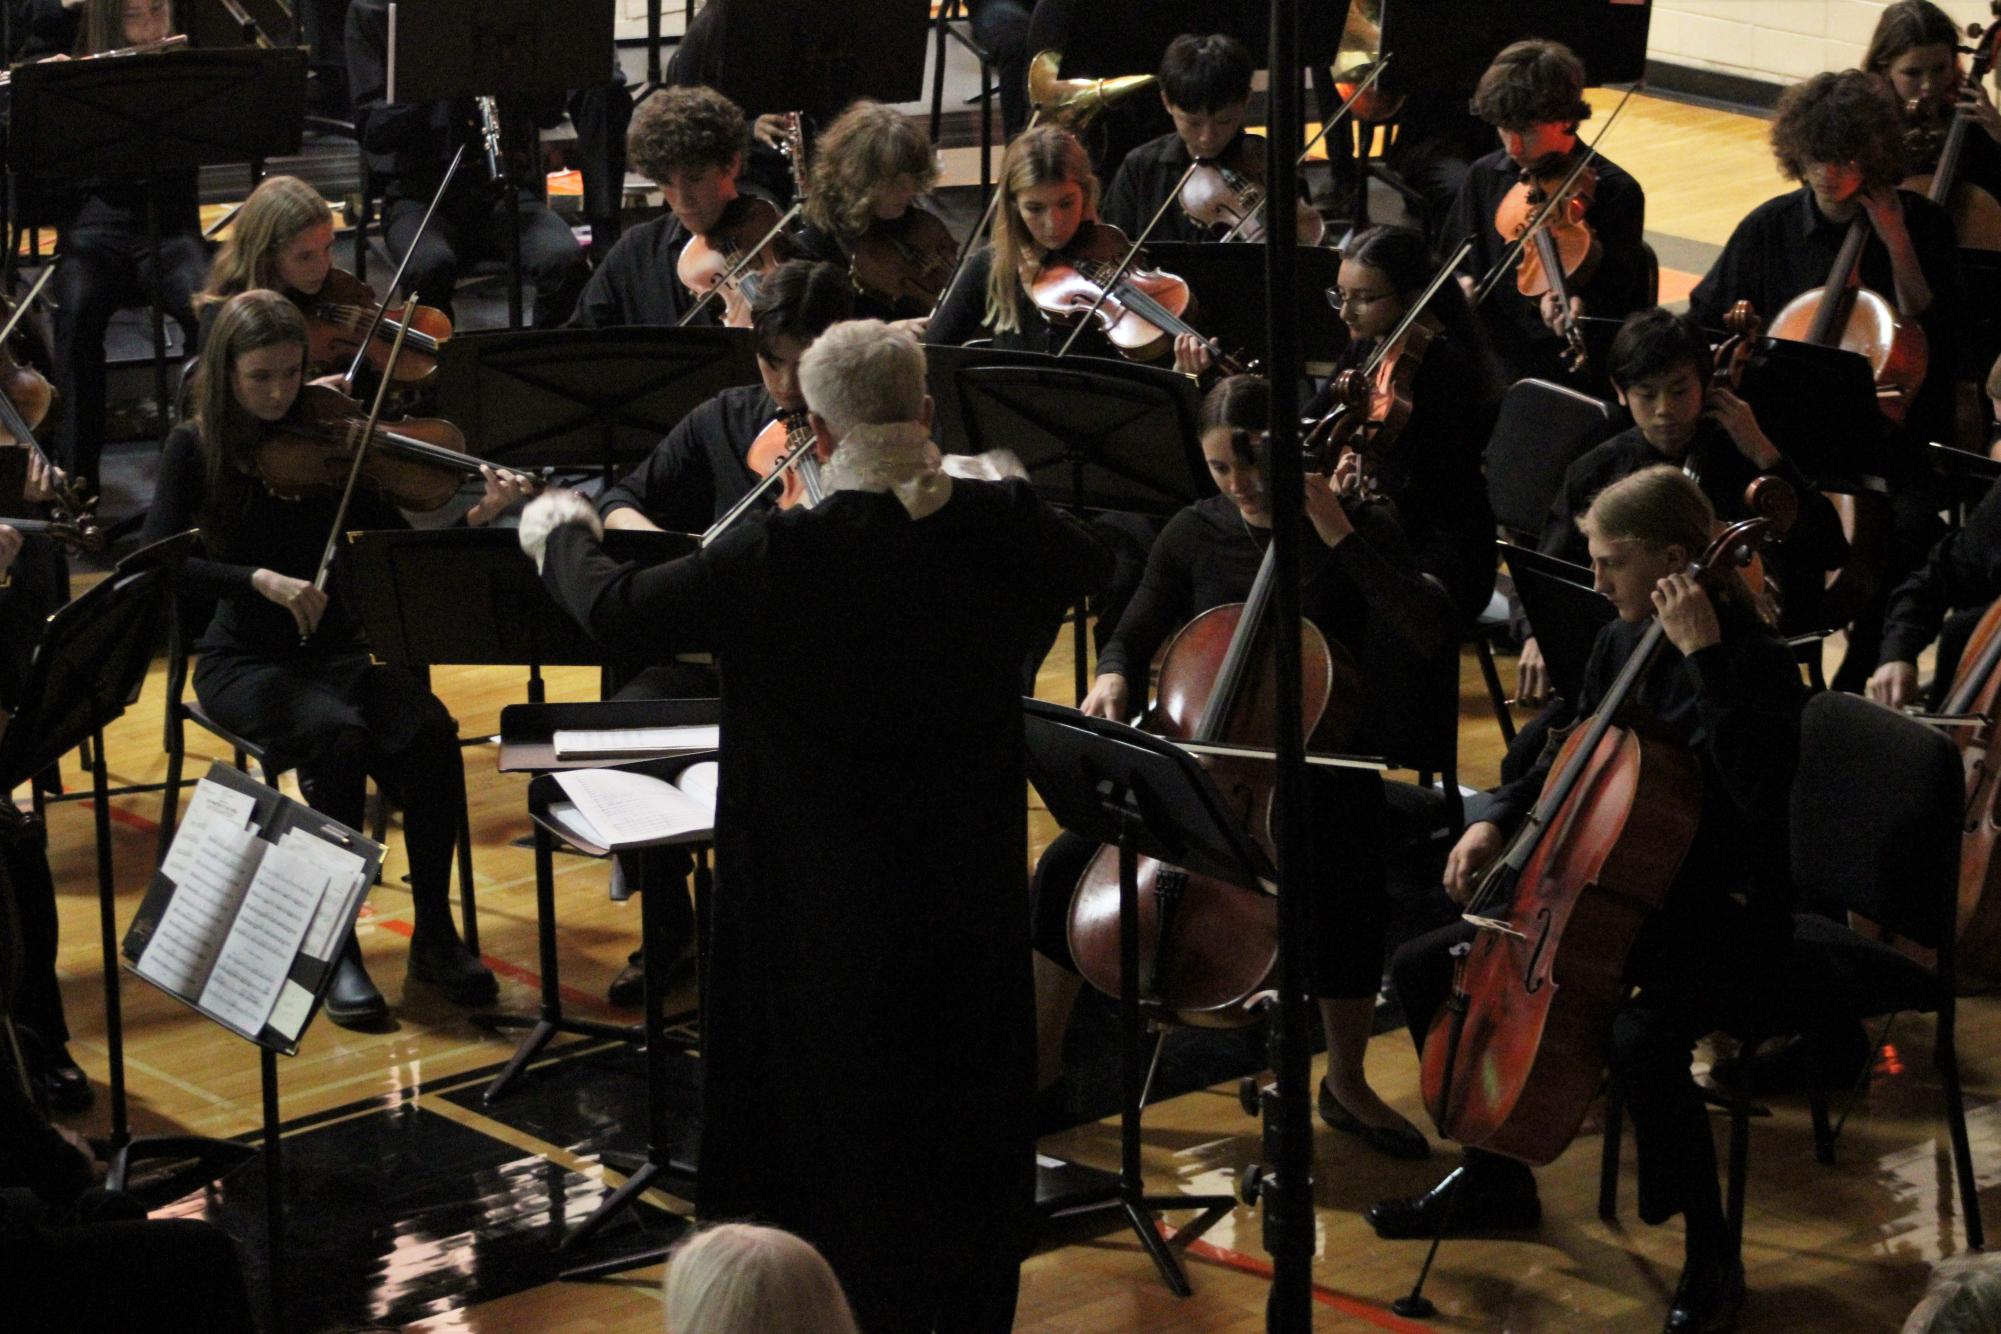
[[[1683,1214],[1687,1264],[1669,1330],[1721,1330],[1743,1304],[1743,1266],[1723,1216],[1715,1146],[1689,1078],[1695,1040],[1749,1004],[1771,952],[1789,936],[1787,802],[1799,758],[1805,688],[1793,652],[1751,608],[1735,572],[1711,594],[1691,562],[1709,546],[1715,512],[1679,468],[1657,466],[1605,488],[1579,520],[1597,590],[1617,620],[1599,632],[1575,718],[1587,718],[1659,618],[1667,644],[1627,698],[1647,734],[1691,752],[1701,768],[1693,844],[1665,904],[1625,960],[1639,984],[1611,1026],[1611,1068],[1627,1090],[1639,1144],[1639,1212]],[[1569,706],[1565,706],[1569,708]],[[1465,904],[1481,872],[1523,824],[1551,774],[1551,754],[1487,798],[1445,862],[1447,892]],[[1567,822],[1583,830],[1589,816]],[[1741,896],[1741,898],[1739,898]],[[1391,982],[1423,1050],[1453,988],[1451,950],[1471,922],[1419,936],[1397,952]],[[1473,1060],[1473,1056],[1467,1056]],[[1429,1238],[1451,1204],[1453,1232],[1533,1228],[1535,1176],[1523,1162],[1469,1148],[1429,1194],[1383,1200],[1369,1222],[1387,1238]]]

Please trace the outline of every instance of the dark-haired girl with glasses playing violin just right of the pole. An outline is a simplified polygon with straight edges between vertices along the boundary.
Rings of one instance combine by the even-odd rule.
[[[1435,270],[1431,248],[1411,228],[1379,226],[1349,240],[1341,252],[1341,286],[1327,294],[1351,334],[1337,362],[1341,370],[1371,358]],[[1417,350],[1419,342],[1419,358],[1403,364],[1401,354]],[[1485,332],[1457,284],[1431,298],[1377,376],[1369,416],[1381,420],[1401,396],[1409,420],[1395,438],[1389,432],[1371,438],[1373,428],[1357,438],[1367,460],[1363,476],[1375,494],[1395,500],[1417,568],[1445,584],[1459,618],[1471,620],[1487,606],[1495,580],[1495,520],[1487,508],[1481,450],[1493,432],[1499,380]],[[1307,416],[1321,418],[1331,406],[1333,380],[1309,404]]]

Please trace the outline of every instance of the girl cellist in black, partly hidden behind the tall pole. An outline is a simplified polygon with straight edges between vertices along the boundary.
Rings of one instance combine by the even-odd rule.
[[[1271,542],[1271,508],[1249,440],[1263,430],[1269,388],[1231,376],[1203,400],[1203,456],[1219,494],[1173,520],[1147,560],[1139,592],[1119,630],[1099,652],[1099,678],[1085,712],[1131,718],[1145,706],[1155,650],[1193,616],[1243,602]],[[1353,464],[1349,464],[1353,470]],[[1379,506],[1339,496],[1331,478],[1309,472],[1305,612],[1361,666],[1363,726],[1353,748],[1381,754],[1427,726],[1441,670],[1457,672],[1451,608],[1411,564],[1397,526]],[[1389,902],[1383,852],[1383,786],[1373,772],[1313,770],[1315,820],[1327,892],[1315,902],[1315,994],[1331,1050],[1321,1116],[1399,1158],[1423,1158],[1425,1136],[1391,1110],[1363,1072],[1363,1052],[1383,972]],[[1069,834],[1045,852],[1035,876],[1037,1044],[1045,1108],[1061,1098],[1063,1032],[1079,980],[1065,918],[1095,844]],[[1339,892],[1337,892],[1339,882]],[[1057,1090],[1057,1092],[1053,1092]],[[1051,1114],[1057,1108],[1047,1108]]]

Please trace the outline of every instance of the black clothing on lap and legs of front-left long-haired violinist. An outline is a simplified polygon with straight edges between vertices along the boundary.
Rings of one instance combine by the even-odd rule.
[[[204,648],[194,694],[216,722],[266,748],[274,768],[296,768],[306,802],[348,828],[362,828],[374,778],[402,808],[416,924],[450,926],[466,768],[458,724],[416,676],[360,652]]]

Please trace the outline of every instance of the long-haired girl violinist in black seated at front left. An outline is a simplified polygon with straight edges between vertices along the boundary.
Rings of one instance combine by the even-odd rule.
[[[166,438],[146,540],[202,530],[206,556],[180,576],[214,598],[194,644],[194,694],[222,726],[296,768],[314,810],[362,822],[368,776],[404,812],[410,854],[408,976],[458,1004],[494,998],[492,972],[466,950],[446,900],[464,800],[458,724],[404,668],[374,664],[340,602],[312,584],[338,496],[278,500],[258,480],[258,444],[292,410],[306,368],[306,322],[276,292],[224,302],[194,380],[194,420]],[[466,514],[484,524],[522,488],[490,476]],[[402,528],[388,502],[356,492],[348,528]],[[354,1028],[388,1014],[354,938],[340,956],[326,1016]]]

